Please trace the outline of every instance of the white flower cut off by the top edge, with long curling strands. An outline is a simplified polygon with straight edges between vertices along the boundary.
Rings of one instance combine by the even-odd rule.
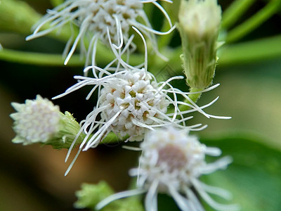
[[[172,3],[169,0],[162,0]],[[92,55],[92,64],[95,65],[95,56],[98,39],[104,44],[108,44],[107,29],[110,32],[112,42],[118,46],[122,46],[123,39],[129,39],[129,28],[131,26],[138,27],[152,41],[155,51],[157,51],[157,41],[155,34],[167,34],[171,32],[158,32],[153,30],[147,15],[143,11],[143,4],[152,3],[164,14],[169,21],[171,30],[174,27],[171,25],[169,15],[156,0],[67,0],[53,10],[48,10],[47,14],[39,20],[35,26],[33,34],[27,37],[27,40],[36,37],[44,36],[53,30],[61,29],[67,23],[77,25],[79,34],[74,40],[72,49],[72,37],[65,46],[65,52],[68,56],[65,59],[65,64],[74,53],[79,41],[81,41],[81,52],[86,53],[86,65],[89,65],[89,58]],[[138,22],[139,19],[141,22]],[[45,29],[46,26],[48,29]],[[42,30],[43,29],[43,30]],[[40,31],[41,30],[41,31]],[[86,50],[84,39],[89,39],[89,47]]]

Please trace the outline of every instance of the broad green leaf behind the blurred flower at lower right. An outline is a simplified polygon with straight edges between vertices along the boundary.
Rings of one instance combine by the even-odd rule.
[[[281,152],[257,141],[247,136],[204,139],[207,146],[217,146],[223,155],[232,156],[233,163],[202,179],[233,193],[241,210],[277,211],[281,207]]]

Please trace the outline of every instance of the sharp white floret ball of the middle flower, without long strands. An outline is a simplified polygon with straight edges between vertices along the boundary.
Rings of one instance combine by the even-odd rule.
[[[145,125],[157,124],[152,117],[164,119],[169,101],[157,91],[158,84],[145,70],[127,71],[117,75],[111,82],[103,85],[100,95],[100,107],[107,106],[101,117],[107,122],[117,113],[110,129],[132,140],[143,140]],[[120,112],[121,111],[121,112]]]

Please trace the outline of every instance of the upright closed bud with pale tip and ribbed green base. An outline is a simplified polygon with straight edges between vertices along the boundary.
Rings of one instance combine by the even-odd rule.
[[[221,7],[216,0],[181,0],[178,21],[187,83],[200,91],[209,87],[214,77]]]

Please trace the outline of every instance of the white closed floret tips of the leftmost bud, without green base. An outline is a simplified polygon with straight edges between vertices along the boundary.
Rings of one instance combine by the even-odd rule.
[[[48,99],[37,95],[33,101],[12,103],[12,106],[17,110],[17,113],[11,114],[15,120],[13,129],[17,134],[14,143],[44,143],[60,130],[60,109]]]

